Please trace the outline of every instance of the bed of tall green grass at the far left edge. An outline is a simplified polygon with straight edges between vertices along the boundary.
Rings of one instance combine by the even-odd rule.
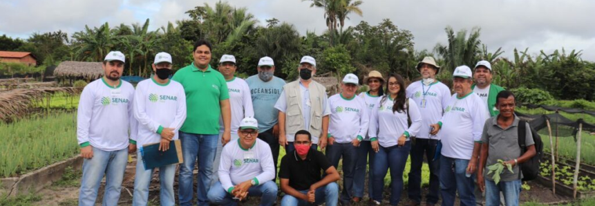
[[[0,122],[0,178],[73,157],[79,151],[75,120],[74,113],[54,113]]]

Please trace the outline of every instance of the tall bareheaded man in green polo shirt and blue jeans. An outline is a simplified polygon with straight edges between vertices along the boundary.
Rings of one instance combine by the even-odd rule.
[[[219,140],[219,118],[223,117],[223,145],[231,138],[232,111],[229,106],[227,83],[221,73],[209,65],[211,43],[198,40],[194,43],[193,64],[181,68],[173,80],[184,86],[187,118],[180,129],[184,163],[180,167],[178,182],[180,205],[193,205],[193,169],[198,158],[198,205],[209,205],[207,192],[211,187],[213,162]]]

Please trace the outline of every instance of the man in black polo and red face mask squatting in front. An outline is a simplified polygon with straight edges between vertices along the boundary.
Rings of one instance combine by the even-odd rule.
[[[337,180],[341,178],[337,169],[322,152],[310,149],[310,132],[297,131],[294,145],[295,151],[281,159],[278,176],[281,179],[281,191],[285,192],[281,206],[321,203],[336,206],[339,200]],[[321,170],[325,171],[324,178],[321,178]]]

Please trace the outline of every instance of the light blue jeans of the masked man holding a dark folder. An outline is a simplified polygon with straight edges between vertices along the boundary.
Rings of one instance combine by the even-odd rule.
[[[149,185],[153,177],[153,169],[145,169],[142,162],[142,155],[137,154],[136,175],[134,178],[134,195],[132,205],[147,205],[149,201]],[[162,206],[176,205],[176,198],[173,196],[173,176],[176,175],[176,165],[165,165],[159,167],[159,199]]]

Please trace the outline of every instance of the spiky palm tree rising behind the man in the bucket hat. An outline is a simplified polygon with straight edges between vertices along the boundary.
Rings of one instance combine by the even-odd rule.
[[[480,28],[473,28],[469,38],[465,29],[457,32],[457,35],[450,26],[447,26],[444,30],[446,30],[448,36],[448,44],[442,45],[439,43],[434,48],[446,63],[444,71],[453,72],[457,66],[475,65],[481,53]]]

